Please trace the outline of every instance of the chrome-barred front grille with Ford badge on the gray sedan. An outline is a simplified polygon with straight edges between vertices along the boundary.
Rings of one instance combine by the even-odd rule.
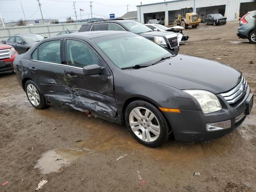
[[[229,103],[229,104],[233,104],[235,102],[237,102],[238,100],[240,100],[240,98],[242,98],[242,96],[244,96],[244,94],[246,93],[246,89],[247,89],[247,81],[245,80],[244,76],[242,77],[242,80],[240,81],[240,83],[235,86],[232,90],[225,92],[225,93],[221,93],[221,96],[224,97],[224,99]]]

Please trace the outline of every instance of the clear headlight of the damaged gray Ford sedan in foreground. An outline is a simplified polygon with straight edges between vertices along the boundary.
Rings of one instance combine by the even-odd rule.
[[[211,92],[204,90],[184,90],[184,92],[190,94],[197,100],[204,114],[222,110],[220,101],[216,95]]]

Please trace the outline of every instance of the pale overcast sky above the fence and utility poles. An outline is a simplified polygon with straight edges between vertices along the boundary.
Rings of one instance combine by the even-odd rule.
[[[88,19],[90,14],[90,0],[40,0],[42,5],[42,14],[44,19],[58,19],[66,21],[67,17],[76,20],[74,13],[73,1],[76,1],[77,19]],[[91,0],[92,1],[92,17],[93,18],[108,18],[109,14],[115,14],[115,17],[120,17],[128,11],[136,11],[136,5],[148,3],[163,2],[164,0]],[[20,3],[21,2],[21,3]],[[0,13],[4,22],[12,22],[20,19],[24,20],[22,6],[24,9],[26,20],[41,19],[41,13],[37,0],[0,0]]]

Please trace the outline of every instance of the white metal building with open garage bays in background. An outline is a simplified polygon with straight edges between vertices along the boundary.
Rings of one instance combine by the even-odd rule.
[[[137,6],[138,21],[147,23],[150,19],[164,18],[165,25],[173,24],[181,8],[192,7],[202,22],[207,14],[220,13],[227,21],[237,21],[248,11],[256,10],[255,0],[172,0]]]

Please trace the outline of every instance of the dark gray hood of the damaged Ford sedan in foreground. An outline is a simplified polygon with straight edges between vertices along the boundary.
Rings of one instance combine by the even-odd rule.
[[[238,70],[204,58],[178,54],[164,62],[130,72],[141,78],[184,89],[215,94],[232,89],[242,78]]]

